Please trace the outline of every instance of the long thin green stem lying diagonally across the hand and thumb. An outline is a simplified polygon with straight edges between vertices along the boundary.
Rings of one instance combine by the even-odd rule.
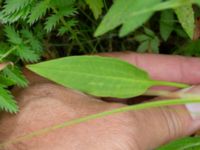
[[[186,103],[200,103],[200,96],[196,99],[190,99],[190,98],[185,98],[185,99],[170,99],[170,100],[161,100],[161,101],[154,101],[154,102],[148,102],[148,103],[143,103],[143,104],[137,104],[137,105],[132,105],[132,106],[126,106],[126,107],[121,107],[117,109],[113,109],[110,111],[105,111],[93,115],[89,115],[86,117],[78,118],[78,119],[73,119],[70,121],[66,121],[61,124],[57,124],[48,128],[44,128],[20,137],[17,137],[15,139],[8,140],[4,143],[0,144],[0,148],[5,148],[11,144],[15,144],[24,140],[32,139],[37,136],[41,136],[44,134],[47,134],[49,132],[55,131],[57,129],[62,129],[70,125],[75,125],[79,124],[82,122],[94,120],[97,118],[102,118],[105,116],[109,116],[112,114],[117,114],[117,113],[122,113],[122,112],[127,112],[127,111],[133,111],[133,110],[141,110],[141,109],[147,109],[147,108],[154,108],[154,107],[161,107],[161,106],[170,106],[170,105],[180,105],[180,104],[186,104]]]

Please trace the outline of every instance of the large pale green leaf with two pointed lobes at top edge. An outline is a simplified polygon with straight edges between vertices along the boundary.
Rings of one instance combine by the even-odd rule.
[[[191,0],[188,2],[185,2],[185,0],[116,0],[98,26],[95,36],[100,36],[120,25],[122,25],[120,36],[125,36],[128,32],[137,29],[154,12],[175,9],[191,5],[191,3],[200,4],[200,0]]]

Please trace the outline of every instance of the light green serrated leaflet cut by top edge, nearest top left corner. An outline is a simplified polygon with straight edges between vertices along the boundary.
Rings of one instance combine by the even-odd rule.
[[[4,14],[11,14],[20,9],[26,7],[30,4],[33,0],[6,0],[3,13]]]

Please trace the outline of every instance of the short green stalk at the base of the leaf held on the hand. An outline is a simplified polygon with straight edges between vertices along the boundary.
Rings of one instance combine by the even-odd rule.
[[[184,83],[177,83],[177,82],[167,82],[167,81],[153,81],[154,85],[156,86],[173,86],[177,88],[188,88],[190,85]]]

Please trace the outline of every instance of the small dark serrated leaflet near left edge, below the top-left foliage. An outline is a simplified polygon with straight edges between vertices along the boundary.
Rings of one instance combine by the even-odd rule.
[[[4,32],[6,33],[6,36],[8,37],[8,41],[10,41],[13,44],[21,44],[22,39],[19,36],[19,33],[15,31],[15,29],[12,26],[6,26],[4,29]]]

